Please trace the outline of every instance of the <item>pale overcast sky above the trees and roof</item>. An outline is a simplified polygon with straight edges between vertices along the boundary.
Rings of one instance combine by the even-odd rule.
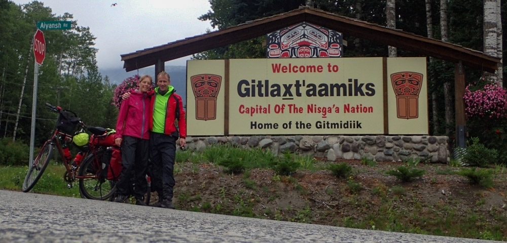
[[[27,4],[28,0],[12,0]],[[42,0],[56,16],[73,14],[79,26],[96,37],[99,69],[123,68],[121,54],[206,33],[209,21],[197,18],[210,10],[208,0]],[[116,6],[111,6],[112,4]],[[49,31],[49,30],[47,30]],[[57,31],[57,30],[51,30]],[[166,62],[186,65],[189,57]]]

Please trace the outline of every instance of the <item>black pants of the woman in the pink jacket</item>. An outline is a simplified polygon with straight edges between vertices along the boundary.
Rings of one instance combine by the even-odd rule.
[[[116,183],[119,195],[133,194],[136,198],[143,198],[148,190],[146,168],[150,140],[131,136],[123,136],[122,142],[122,173]],[[133,179],[133,180],[132,180]],[[132,181],[134,188],[132,188]]]

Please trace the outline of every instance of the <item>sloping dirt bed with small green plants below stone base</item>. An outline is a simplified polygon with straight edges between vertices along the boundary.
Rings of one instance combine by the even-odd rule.
[[[288,158],[280,159],[283,164]],[[313,169],[290,175],[248,166],[232,173],[219,164],[228,165],[190,160],[176,165],[176,209],[507,240],[507,171],[500,166],[490,170],[493,187],[484,187],[457,174],[465,167],[444,164],[313,159]],[[409,180],[387,173],[399,167],[408,169]]]

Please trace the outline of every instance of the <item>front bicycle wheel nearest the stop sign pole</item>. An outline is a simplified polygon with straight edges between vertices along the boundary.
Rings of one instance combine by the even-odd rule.
[[[44,170],[48,167],[49,160],[51,160],[51,154],[53,153],[53,144],[51,140],[46,141],[42,146],[41,151],[33,160],[33,165],[28,168],[25,180],[23,181],[23,192],[28,192],[31,188],[39,181]]]

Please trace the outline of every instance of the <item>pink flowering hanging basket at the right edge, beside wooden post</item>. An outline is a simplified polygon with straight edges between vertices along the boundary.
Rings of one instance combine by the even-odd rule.
[[[482,80],[485,80],[482,78]],[[465,112],[468,117],[478,116],[499,118],[507,111],[507,92],[498,84],[487,83],[482,89],[465,88]]]

